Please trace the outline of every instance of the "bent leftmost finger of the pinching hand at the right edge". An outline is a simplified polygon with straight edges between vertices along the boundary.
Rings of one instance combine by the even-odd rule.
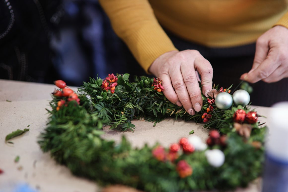
[[[241,75],[240,79],[244,80],[246,76],[254,71],[267,57],[269,51],[269,44],[268,41],[262,38],[258,38],[256,42],[256,50],[255,50],[255,57],[253,61],[253,65],[251,70],[248,73],[244,73]]]

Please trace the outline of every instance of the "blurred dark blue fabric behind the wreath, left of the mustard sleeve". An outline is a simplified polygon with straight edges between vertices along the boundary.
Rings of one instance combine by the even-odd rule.
[[[89,76],[105,78],[127,72],[124,44],[113,32],[98,1],[66,0],[59,32],[52,38],[53,63],[69,85],[80,86]]]

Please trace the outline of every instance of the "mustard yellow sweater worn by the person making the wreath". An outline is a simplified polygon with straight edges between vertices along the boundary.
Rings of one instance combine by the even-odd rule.
[[[288,28],[288,0],[100,0],[100,3],[115,33],[146,71],[161,54],[177,50],[160,24],[187,41],[209,47],[249,44],[274,25]]]

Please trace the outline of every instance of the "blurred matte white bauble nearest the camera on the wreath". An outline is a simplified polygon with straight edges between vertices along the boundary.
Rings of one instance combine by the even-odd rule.
[[[225,155],[223,151],[219,149],[207,150],[205,151],[205,156],[208,163],[213,167],[220,167],[225,161]]]

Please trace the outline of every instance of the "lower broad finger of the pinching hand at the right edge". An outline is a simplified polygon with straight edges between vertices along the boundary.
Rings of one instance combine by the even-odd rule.
[[[280,62],[276,62],[278,61],[277,57],[276,53],[271,52],[256,69],[247,74],[244,80],[250,83],[256,83],[269,77],[281,64]]]

